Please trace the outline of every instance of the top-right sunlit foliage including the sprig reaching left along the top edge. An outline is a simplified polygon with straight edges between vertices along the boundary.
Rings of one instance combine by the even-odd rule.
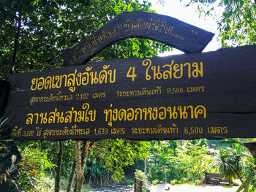
[[[256,4],[252,0],[189,0],[197,3],[200,13],[212,15],[216,5],[222,7],[222,17],[218,20],[219,37],[222,47],[255,45]]]

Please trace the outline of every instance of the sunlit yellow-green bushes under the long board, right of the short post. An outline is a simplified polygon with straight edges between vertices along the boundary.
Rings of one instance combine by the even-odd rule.
[[[186,183],[200,180],[204,172],[216,172],[214,158],[207,155],[206,140],[157,141],[151,143],[148,180]]]

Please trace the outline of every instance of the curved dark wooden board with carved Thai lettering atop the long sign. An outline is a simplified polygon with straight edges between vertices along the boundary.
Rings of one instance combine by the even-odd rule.
[[[121,39],[140,37],[165,43],[185,53],[201,52],[214,34],[176,18],[150,12],[123,12],[83,39],[63,50],[64,64],[80,65]]]

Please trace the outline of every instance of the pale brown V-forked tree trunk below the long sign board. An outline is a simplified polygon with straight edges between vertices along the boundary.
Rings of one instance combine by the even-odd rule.
[[[75,144],[75,158],[76,158],[76,169],[77,169],[77,182],[76,182],[76,192],[81,192],[83,188],[84,176],[83,172],[86,167],[86,160],[90,149],[89,141],[83,147],[81,153],[81,141],[77,141]]]

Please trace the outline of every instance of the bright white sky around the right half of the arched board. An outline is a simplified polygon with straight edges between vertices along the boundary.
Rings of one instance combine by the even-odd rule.
[[[165,4],[164,6],[162,6],[162,4],[159,4],[158,0],[148,0],[148,1],[151,2],[152,4],[151,9],[156,10],[158,14],[168,15],[170,17],[181,20],[185,23],[189,23],[193,26],[197,26],[199,28],[203,28],[206,31],[210,31],[214,33],[215,34],[214,38],[206,46],[203,52],[219,49],[220,43],[217,42],[217,31],[218,31],[217,22],[210,17],[200,18],[199,12],[197,11],[197,7],[196,7],[197,5],[194,4],[192,6],[186,7],[184,5],[184,2],[181,2],[180,0],[165,0]],[[179,50],[174,50],[171,52],[165,52],[165,53],[159,54],[159,56],[176,55],[181,53],[183,52]]]

